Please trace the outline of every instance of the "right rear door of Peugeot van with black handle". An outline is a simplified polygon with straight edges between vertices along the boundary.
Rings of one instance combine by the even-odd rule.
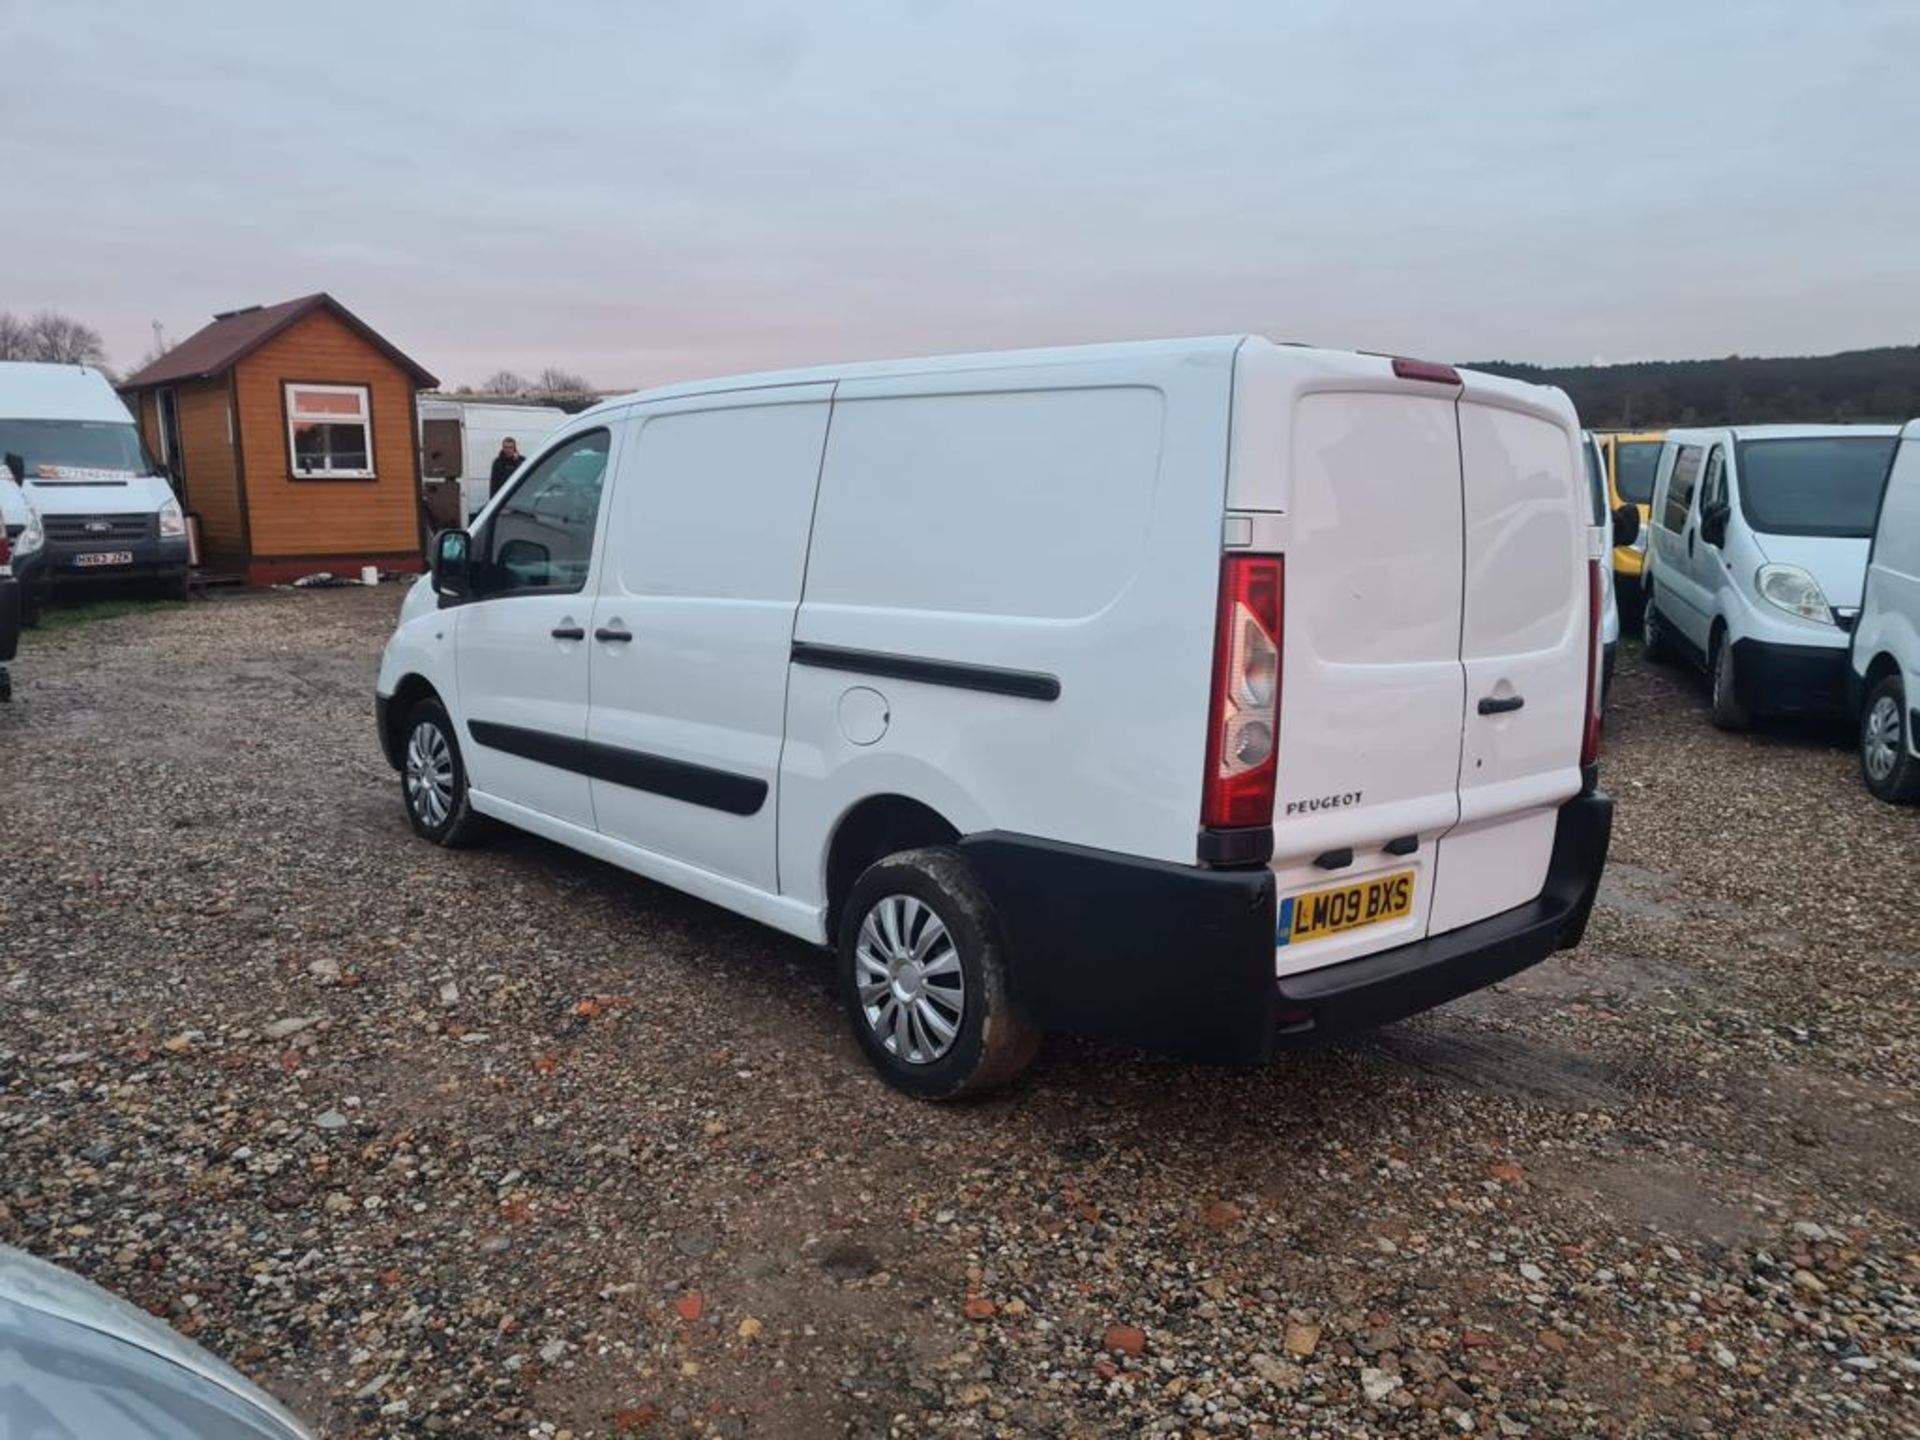
[[[1440,843],[1428,931],[1440,935],[1540,893],[1559,806],[1580,791],[1588,561],[1578,422],[1565,396],[1465,376],[1467,691],[1459,824]]]

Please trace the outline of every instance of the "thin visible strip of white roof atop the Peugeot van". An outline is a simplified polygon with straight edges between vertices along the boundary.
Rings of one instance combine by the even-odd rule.
[[[916,359],[893,359],[893,361],[858,361],[849,365],[814,365],[799,371],[766,371],[758,374],[724,374],[712,376],[708,380],[687,380],[684,384],[657,386],[653,390],[636,390],[628,396],[611,396],[603,399],[584,415],[597,415],[611,409],[620,409],[624,405],[634,405],[637,401],[653,399],[682,399],[689,396],[718,396],[730,390],[770,390],[774,386],[803,386],[803,384],[831,384],[835,380],[874,380],[908,374],[962,374],[966,371],[998,371],[1008,367],[1050,367],[1050,365],[1100,365],[1100,363],[1137,363],[1144,369],[1152,367],[1171,367],[1192,361],[1213,361],[1227,365],[1242,344],[1256,342],[1261,346],[1275,344],[1265,336],[1256,334],[1225,334],[1225,336],[1192,336],[1185,340],[1119,340],[1096,346],[1052,346],[1044,349],[987,349],[970,351],[962,355],[922,355]],[[1302,359],[1327,359],[1338,357],[1340,361],[1352,361],[1356,351],[1323,349],[1317,346],[1298,346],[1292,342],[1277,346],[1288,353],[1300,355]],[[1375,355],[1373,359],[1388,361],[1388,355]],[[1542,396],[1544,386],[1526,384],[1521,380],[1505,380],[1501,376],[1486,374],[1480,371],[1465,371],[1459,374],[1471,380],[1471,388],[1476,394],[1505,394],[1513,397],[1523,396]],[[578,419],[578,417],[574,417]]]

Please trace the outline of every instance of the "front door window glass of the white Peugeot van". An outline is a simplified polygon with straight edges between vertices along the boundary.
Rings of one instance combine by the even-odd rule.
[[[607,478],[607,430],[568,436],[501,501],[486,545],[486,593],[586,588]]]

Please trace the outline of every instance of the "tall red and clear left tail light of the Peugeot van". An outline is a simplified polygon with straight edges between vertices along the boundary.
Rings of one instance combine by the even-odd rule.
[[[1281,751],[1279,555],[1229,555],[1219,570],[1213,628],[1213,707],[1208,716],[1208,828],[1271,826]]]

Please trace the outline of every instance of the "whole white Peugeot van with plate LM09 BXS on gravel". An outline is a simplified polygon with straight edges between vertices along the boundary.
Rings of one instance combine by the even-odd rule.
[[[1258,338],[572,417],[380,662],[413,828],[837,948],[943,1098],[1044,1029],[1256,1062],[1578,943],[1605,534],[1557,390]]]

